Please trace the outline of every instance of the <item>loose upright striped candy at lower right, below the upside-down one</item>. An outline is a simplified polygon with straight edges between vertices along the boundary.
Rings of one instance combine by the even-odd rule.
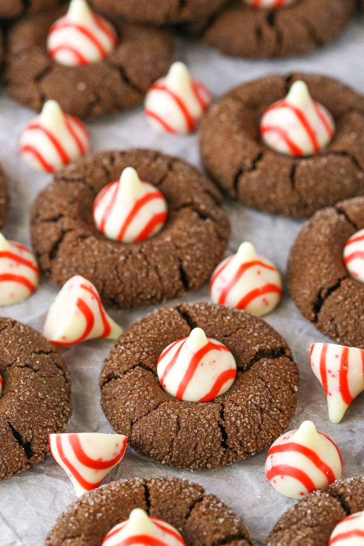
[[[317,489],[327,490],[341,478],[343,465],[335,443],[317,432],[312,421],[285,432],[272,443],[265,461],[268,481],[282,495],[301,498]]]

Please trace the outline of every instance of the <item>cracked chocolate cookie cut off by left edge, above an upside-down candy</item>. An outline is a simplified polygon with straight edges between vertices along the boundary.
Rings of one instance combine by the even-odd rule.
[[[49,453],[48,436],[71,415],[70,378],[57,349],[33,328],[0,318],[0,479]]]

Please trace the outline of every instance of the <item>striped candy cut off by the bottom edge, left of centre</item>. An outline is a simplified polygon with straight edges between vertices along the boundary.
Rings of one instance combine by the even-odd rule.
[[[185,546],[180,533],[162,519],[151,518],[141,508],[134,508],[129,519],[115,525],[102,546]]]

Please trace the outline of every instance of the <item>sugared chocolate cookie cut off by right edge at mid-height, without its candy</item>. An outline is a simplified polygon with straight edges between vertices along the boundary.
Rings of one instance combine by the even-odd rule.
[[[345,243],[362,228],[364,197],[317,212],[291,248],[287,276],[307,321],[337,343],[364,348],[364,284],[349,276],[343,261]]]

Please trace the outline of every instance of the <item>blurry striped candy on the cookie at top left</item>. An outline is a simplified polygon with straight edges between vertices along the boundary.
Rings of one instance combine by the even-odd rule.
[[[105,59],[117,44],[115,29],[90,9],[86,0],[71,0],[68,12],[50,28],[47,50],[66,66],[82,66]]]

